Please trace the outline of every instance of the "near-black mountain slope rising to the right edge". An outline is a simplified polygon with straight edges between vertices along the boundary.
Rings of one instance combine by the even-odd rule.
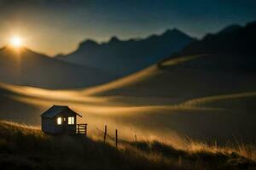
[[[216,34],[207,34],[202,40],[190,43],[173,57],[207,54],[207,57],[183,63],[183,67],[211,71],[246,71],[256,73],[256,22],[247,26],[227,26]]]

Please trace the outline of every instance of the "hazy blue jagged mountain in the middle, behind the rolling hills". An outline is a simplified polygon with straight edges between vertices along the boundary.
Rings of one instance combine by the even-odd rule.
[[[194,38],[182,31],[172,29],[144,39],[122,41],[118,37],[111,37],[108,42],[102,43],[86,40],[72,54],[59,55],[58,58],[123,76],[152,65],[193,41]]]

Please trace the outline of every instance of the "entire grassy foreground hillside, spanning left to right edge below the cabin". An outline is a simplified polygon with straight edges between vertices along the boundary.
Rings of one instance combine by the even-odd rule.
[[[256,166],[253,147],[187,141],[177,149],[158,141],[112,144],[83,136],[48,136],[37,127],[0,122],[1,169],[244,169]]]

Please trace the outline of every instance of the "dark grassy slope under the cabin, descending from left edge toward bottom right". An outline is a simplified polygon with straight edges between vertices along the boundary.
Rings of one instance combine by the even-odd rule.
[[[0,122],[1,169],[163,169],[171,165],[150,161],[133,150],[82,136],[45,135],[36,127]],[[155,156],[156,157],[156,156]],[[176,167],[176,166],[172,166]]]

